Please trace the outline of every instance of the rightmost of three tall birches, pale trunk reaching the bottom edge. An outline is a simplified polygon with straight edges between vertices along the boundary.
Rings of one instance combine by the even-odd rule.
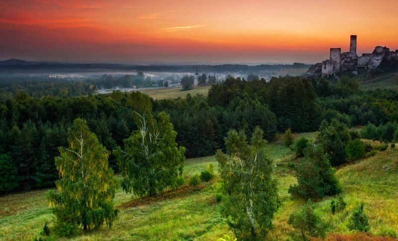
[[[216,155],[225,191],[222,214],[239,239],[262,239],[279,206],[263,131],[256,127],[248,143],[243,131],[230,130],[225,145],[227,153]]]

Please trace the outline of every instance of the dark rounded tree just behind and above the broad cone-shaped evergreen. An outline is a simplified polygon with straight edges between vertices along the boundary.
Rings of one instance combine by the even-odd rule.
[[[345,124],[333,119],[330,125],[322,121],[316,142],[320,144],[332,166],[343,164],[346,161],[345,146],[351,140]]]

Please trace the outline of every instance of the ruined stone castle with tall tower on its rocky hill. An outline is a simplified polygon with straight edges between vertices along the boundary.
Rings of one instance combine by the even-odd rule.
[[[358,70],[372,73],[378,69],[398,71],[398,50],[390,51],[387,47],[376,46],[372,53],[357,55],[357,35],[350,37],[350,51],[341,53],[341,48],[330,48],[330,58],[311,66],[304,77],[333,78],[339,73],[351,72],[358,75]]]

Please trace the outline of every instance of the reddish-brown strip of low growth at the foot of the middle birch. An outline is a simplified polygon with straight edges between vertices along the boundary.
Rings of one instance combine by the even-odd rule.
[[[117,205],[116,207],[117,208],[129,208],[129,207],[146,206],[146,205],[151,205],[156,202],[160,202],[160,201],[164,201],[164,200],[169,200],[169,199],[174,199],[174,198],[183,198],[184,196],[186,196],[190,193],[199,191],[203,187],[214,183],[214,181],[215,181],[214,179],[215,178],[210,180],[208,183],[201,183],[198,186],[194,186],[194,187],[191,187],[189,185],[184,185],[177,190],[165,191],[159,196],[153,196],[153,197],[147,196],[147,197],[135,198],[131,201],[121,203],[121,204]]]

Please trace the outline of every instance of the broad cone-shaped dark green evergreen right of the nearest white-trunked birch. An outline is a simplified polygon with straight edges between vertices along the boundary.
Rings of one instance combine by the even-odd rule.
[[[327,155],[321,146],[308,146],[305,156],[296,165],[295,176],[298,184],[290,186],[289,193],[294,198],[322,198],[341,192],[340,184],[334,176],[336,170],[331,167]]]

